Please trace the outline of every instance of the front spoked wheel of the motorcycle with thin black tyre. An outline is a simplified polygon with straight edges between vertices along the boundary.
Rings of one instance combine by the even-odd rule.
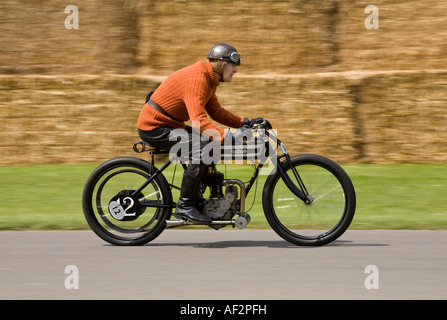
[[[346,172],[332,160],[313,154],[291,158],[309,193],[305,203],[292,193],[279,173],[268,177],[262,204],[272,229],[283,239],[307,246],[319,246],[340,237],[354,217],[356,197]],[[283,170],[296,184],[287,161]]]

